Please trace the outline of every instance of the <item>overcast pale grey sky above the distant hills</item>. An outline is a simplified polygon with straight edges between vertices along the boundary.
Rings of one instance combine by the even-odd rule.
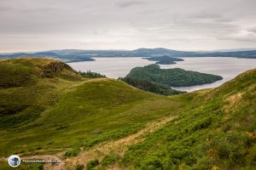
[[[256,48],[255,0],[0,0],[0,53]]]

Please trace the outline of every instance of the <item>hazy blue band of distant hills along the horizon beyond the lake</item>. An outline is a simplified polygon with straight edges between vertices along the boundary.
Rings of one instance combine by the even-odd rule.
[[[233,52],[192,52],[177,51],[167,48],[138,48],[135,50],[80,50],[62,49],[37,53],[0,54],[0,59],[14,59],[22,57],[54,58],[64,62],[91,61],[92,57],[236,57],[256,59],[256,50]]]

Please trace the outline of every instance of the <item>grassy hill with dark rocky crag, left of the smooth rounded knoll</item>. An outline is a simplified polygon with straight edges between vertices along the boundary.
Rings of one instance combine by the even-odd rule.
[[[73,69],[53,59],[0,61],[0,128],[34,120],[55,93],[82,80]]]

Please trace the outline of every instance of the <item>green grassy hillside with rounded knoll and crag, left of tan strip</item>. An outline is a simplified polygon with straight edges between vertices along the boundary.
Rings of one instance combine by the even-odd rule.
[[[0,65],[5,78],[0,83],[0,156],[91,147],[177,114],[188,103],[113,79],[84,79],[51,59],[11,59]]]

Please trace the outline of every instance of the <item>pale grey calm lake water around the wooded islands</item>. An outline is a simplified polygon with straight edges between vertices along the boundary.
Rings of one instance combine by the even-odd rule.
[[[117,78],[125,77],[126,74],[136,66],[153,64],[154,61],[148,61],[141,58],[95,58],[96,61],[84,61],[69,63],[76,71],[95,71],[100,72],[107,77]],[[182,68],[188,71],[200,71],[210,74],[216,74],[223,77],[223,80],[192,87],[179,87],[175,89],[183,91],[194,91],[202,88],[215,88],[227,82],[243,71],[256,68],[256,59],[236,59],[224,57],[204,57],[204,58],[183,58],[184,61],[178,61],[176,65],[160,65],[161,68]]]

